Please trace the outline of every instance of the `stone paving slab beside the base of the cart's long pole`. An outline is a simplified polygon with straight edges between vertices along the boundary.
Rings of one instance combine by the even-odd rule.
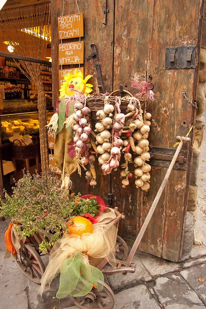
[[[138,281],[150,281],[152,277],[142,265],[137,256],[134,257],[133,263],[137,263],[135,273],[127,273],[124,276],[122,273],[117,273],[108,278],[109,284],[113,291],[126,288],[128,286],[134,286]]]

